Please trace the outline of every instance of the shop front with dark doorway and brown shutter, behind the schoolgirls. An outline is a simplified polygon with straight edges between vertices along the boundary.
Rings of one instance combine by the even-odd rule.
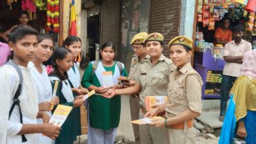
[[[100,45],[111,41],[114,45],[119,45],[119,10],[121,1],[117,0],[83,0],[82,9],[87,10],[83,16],[87,29],[81,31],[87,33],[84,52],[89,54],[90,61],[98,59]],[[82,10],[82,11],[83,11]],[[118,51],[119,49],[117,49]],[[118,53],[118,52],[117,52]]]

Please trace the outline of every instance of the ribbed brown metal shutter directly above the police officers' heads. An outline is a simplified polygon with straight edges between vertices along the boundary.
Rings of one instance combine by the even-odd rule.
[[[168,43],[179,35],[179,0],[151,0],[150,33],[158,32],[164,37],[163,54],[169,58]]]

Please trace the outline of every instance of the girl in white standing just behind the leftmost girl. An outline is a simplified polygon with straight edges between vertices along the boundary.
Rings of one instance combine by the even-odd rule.
[[[32,69],[32,77],[35,82],[39,111],[45,111],[49,117],[51,113],[51,100],[53,99],[51,81],[48,77],[47,70],[43,62],[49,60],[53,54],[53,38],[48,34],[38,35],[37,52],[32,62],[28,63],[28,67]],[[58,97],[55,98],[54,104],[58,104]],[[37,124],[43,124],[43,120],[37,118]],[[53,143],[53,139],[38,134],[40,143]]]

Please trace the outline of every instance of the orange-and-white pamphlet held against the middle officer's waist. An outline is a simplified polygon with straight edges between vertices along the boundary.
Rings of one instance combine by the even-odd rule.
[[[167,96],[146,96],[145,104],[146,104],[146,111],[152,109],[153,105],[161,105],[168,101]]]

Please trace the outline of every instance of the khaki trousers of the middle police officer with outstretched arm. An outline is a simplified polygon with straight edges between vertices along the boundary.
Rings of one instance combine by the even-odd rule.
[[[144,113],[140,110],[140,118],[144,118]],[[164,128],[156,128],[146,124],[139,125],[141,144],[161,144],[164,143]]]

